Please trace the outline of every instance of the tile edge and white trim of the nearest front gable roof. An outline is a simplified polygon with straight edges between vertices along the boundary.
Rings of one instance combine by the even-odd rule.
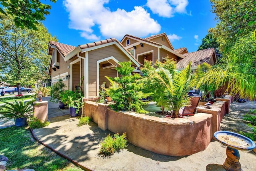
[[[82,45],[79,45],[79,47],[81,49],[85,49],[85,48],[90,48],[90,47],[94,47],[102,44],[107,44],[110,42],[117,42],[132,58],[134,58],[134,56],[132,56],[132,54],[116,38],[110,38],[110,39],[100,40],[100,41],[92,42],[88,44],[82,44]],[[134,58],[134,60],[138,62],[138,64],[140,64],[140,62],[136,58]]]

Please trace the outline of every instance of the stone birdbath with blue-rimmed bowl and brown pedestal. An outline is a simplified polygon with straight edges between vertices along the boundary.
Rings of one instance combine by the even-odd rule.
[[[242,171],[238,150],[252,150],[255,148],[255,143],[243,135],[230,131],[217,131],[214,133],[214,137],[220,143],[228,146],[226,150],[227,158],[223,164],[224,169]]]

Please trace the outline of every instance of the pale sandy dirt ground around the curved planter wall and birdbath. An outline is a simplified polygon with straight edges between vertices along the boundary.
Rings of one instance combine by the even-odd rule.
[[[255,101],[232,103],[230,113],[225,115],[220,129],[225,131],[248,129],[246,123],[242,121],[242,116],[250,109],[256,109]],[[100,141],[111,132],[102,131],[93,122],[81,127],[77,127],[77,124],[78,118],[69,118],[52,122],[48,127],[34,129],[34,133],[44,143],[96,171],[224,170],[222,164],[226,159],[226,146],[217,141],[212,141],[206,150],[189,156],[159,155],[128,143],[128,147],[112,157],[102,157],[98,155]],[[157,140],[152,139],[152,141]],[[256,170],[256,154],[253,151],[239,151],[239,153],[242,169]]]

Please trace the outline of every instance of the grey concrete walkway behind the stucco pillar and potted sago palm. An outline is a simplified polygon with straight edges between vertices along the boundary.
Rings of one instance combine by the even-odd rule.
[[[58,103],[50,102],[50,97],[42,97],[42,101],[48,101],[48,120],[50,122],[71,118],[68,109],[60,109]],[[0,119],[0,129],[14,126],[14,119]]]

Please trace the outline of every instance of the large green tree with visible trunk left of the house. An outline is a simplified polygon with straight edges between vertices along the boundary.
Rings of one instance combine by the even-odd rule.
[[[33,85],[47,76],[50,57],[48,42],[56,40],[40,23],[38,31],[17,27],[12,16],[0,20],[0,82],[10,85]]]

